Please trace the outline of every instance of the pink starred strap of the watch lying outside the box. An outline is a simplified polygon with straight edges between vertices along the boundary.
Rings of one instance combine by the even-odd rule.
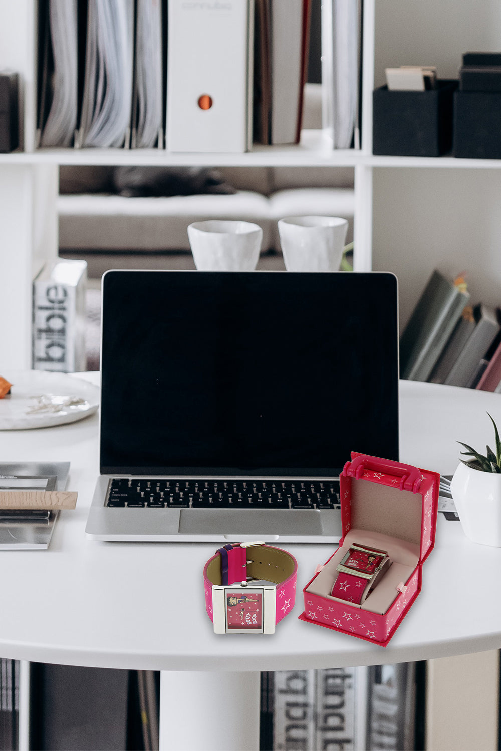
[[[247,577],[276,584],[275,623],[294,608],[297,561],[291,553],[265,544],[225,545],[204,566],[205,608],[210,620],[213,620],[213,584],[240,584]]]

